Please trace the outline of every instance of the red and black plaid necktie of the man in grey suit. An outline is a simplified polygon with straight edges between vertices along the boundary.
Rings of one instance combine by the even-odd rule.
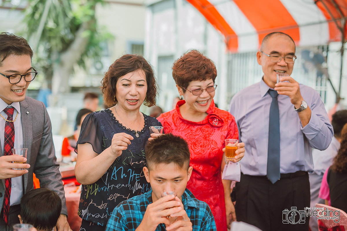
[[[7,120],[5,122],[5,142],[4,142],[4,150],[5,156],[12,155],[12,148],[15,144],[15,126],[13,122],[13,112],[14,108],[7,107],[3,111],[7,114]],[[5,197],[4,197],[4,205],[3,205],[3,220],[8,225],[8,210],[10,207],[10,195],[11,195],[11,178],[5,179]]]

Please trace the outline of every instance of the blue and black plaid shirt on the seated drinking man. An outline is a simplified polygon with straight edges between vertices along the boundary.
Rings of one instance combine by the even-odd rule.
[[[193,224],[193,231],[216,231],[216,225],[210,207],[199,201],[186,189],[182,195],[183,207]],[[112,212],[107,222],[106,231],[135,230],[143,219],[147,205],[152,203],[152,189],[147,193],[134,196],[120,203]],[[159,224],[156,231],[166,231],[164,224]]]

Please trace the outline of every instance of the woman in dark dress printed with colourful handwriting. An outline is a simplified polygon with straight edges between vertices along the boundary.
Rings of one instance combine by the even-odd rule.
[[[139,111],[155,105],[156,82],[149,63],[137,55],[116,60],[102,80],[108,109],[84,119],[77,141],[76,179],[83,185],[81,231],[104,230],[120,202],[150,189],[142,168],[150,126],[161,124]]]

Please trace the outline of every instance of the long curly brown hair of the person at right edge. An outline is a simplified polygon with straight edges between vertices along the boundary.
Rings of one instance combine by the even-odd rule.
[[[341,131],[341,145],[334,158],[331,169],[335,172],[347,172],[347,124]]]

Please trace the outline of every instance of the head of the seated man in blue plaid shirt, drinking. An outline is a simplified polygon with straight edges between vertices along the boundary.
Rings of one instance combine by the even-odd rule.
[[[167,191],[176,192],[180,198],[193,170],[187,142],[180,136],[160,135],[146,145],[145,153],[147,167],[143,171],[152,187],[153,202]]]

